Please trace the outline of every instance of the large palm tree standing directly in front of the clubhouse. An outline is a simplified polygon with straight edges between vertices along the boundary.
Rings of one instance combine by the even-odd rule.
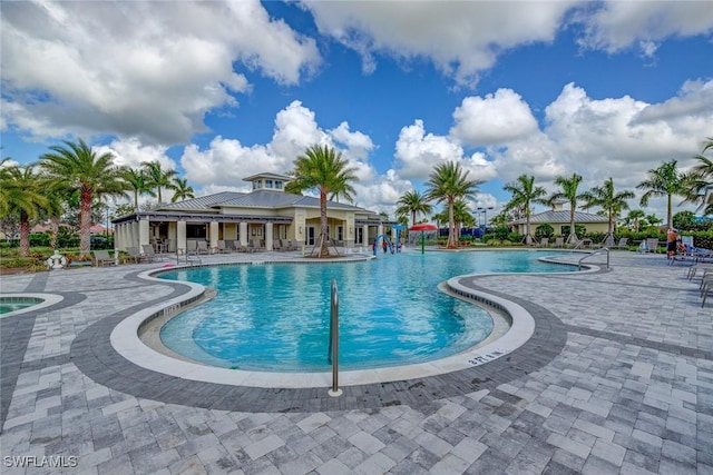
[[[326,234],[326,200],[328,197],[340,195],[352,201],[354,188],[351,181],[356,180],[355,168],[350,168],[342,154],[329,146],[313,145],[304,155],[294,160],[293,178],[285,186],[285,191],[301,194],[306,189],[316,189],[320,194],[320,254],[329,257]]]

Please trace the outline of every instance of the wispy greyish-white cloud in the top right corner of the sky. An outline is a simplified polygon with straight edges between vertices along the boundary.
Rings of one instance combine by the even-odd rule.
[[[713,31],[713,8],[707,1],[606,1],[590,16],[582,16],[586,48],[617,52],[641,43],[643,52],[668,37],[688,37]]]

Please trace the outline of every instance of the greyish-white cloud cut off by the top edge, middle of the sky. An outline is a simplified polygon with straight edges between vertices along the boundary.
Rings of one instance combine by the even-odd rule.
[[[427,58],[458,83],[477,81],[508,48],[553,41],[574,1],[303,2],[320,32],[354,49],[365,72],[375,55]]]

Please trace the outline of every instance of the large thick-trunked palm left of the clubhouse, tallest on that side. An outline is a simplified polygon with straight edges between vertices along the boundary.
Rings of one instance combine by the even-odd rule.
[[[84,140],[52,146],[40,157],[39,166],[52,182],[64,184],[79,192],[79,251],[90,250],[91,204],[105,196],[124,196],[126,182],[121,169],[114,166],[110,152],[97,156]]]

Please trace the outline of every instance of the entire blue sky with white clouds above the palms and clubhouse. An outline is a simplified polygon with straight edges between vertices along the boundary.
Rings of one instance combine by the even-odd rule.
[[[711,1],[2,1],[2,157],[81,138],[197,196],[314,144],[393,216],[456,160],[498,212],[522,174],[636,190],[713,137]],[[676,200],[677,205],[680,200]],[[638,198],[631,209],[641,208]],[[665,218],[665,202],[643,208]],[[683,209],[694,209],[682,206]],[[437,210],[440,210],[437,207]],[[544,210],[543,207],[536,210]],[[492,215],[491,215],[492,216]]]

